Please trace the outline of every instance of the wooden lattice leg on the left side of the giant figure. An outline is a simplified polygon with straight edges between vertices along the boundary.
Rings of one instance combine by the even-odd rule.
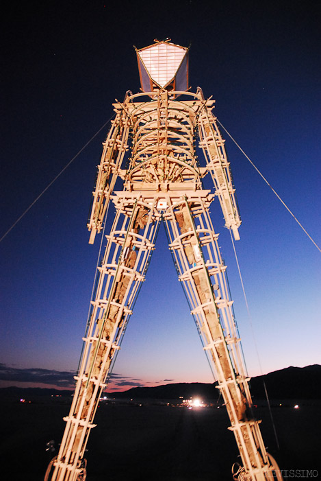
[[[160,219],[155,201],[147,204],[116,193],[114,203],[116,217],[98,268],[99,280],[75,377],[75,395],[70,413],[64,418],[66,428],[60,451],[49,465],[45,480],[86,478],[84,453],[94,427],[94,414],[155,245]]]

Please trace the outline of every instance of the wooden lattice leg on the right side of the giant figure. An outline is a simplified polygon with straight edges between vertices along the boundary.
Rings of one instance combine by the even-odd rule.
[[[237,476],[242,472],[244,480],[264,481],[273,466],[264,447],[259,421],[252,413],[249,379],[244,370],[233,301],[229,299],[226,266],[220,257],[218,235],[214,233],[208,207],[209,201],[201,195],[198,200],[185,196],[181,202],[170,205],[164,214],[170,249],[204,349],[210,353],[231,421],[229,429],[240,450],[243,467]]]

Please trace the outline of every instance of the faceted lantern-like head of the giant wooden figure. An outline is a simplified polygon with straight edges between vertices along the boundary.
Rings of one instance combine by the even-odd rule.
[[[137,50],[137,54],[140,81],[145,92],[153,90],[153,82],[160,87],[166,87],[174,81],[175,89],[188,89],[187,48],[159,42]]]

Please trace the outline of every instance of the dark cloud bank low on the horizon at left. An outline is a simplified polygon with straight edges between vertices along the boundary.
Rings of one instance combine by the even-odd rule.
[[[51,384],[60,388],[73,388],[75,386],[74,376],[76,374],[75,371],[16,368],[0,363],[0,381]],[[110,375],[110,383],[114,386],[144,386],[141,381],[142,379],[133,379],[117,373]]]

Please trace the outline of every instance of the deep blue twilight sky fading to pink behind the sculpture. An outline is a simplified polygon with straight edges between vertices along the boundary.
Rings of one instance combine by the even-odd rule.
[[[320,245],[317,5],[10,3],[1,27],[1,235],[111,117],[115,97],[138,91],[133,45],[170,37],[192,43],[192,90],[201,86],[214,96],[220,122]],[[106,132],[0,244],[3,386],[77,368],[100,240],[89,246],[86,221]],[[320,364],[320,253],[235,145],[226,145],[243,222],[236,247],[262,370]],[[229,233],[219,205],[211,212],[248,371],[259,375]],[[121,388],[213,380],[163,228],[114,372]]]

